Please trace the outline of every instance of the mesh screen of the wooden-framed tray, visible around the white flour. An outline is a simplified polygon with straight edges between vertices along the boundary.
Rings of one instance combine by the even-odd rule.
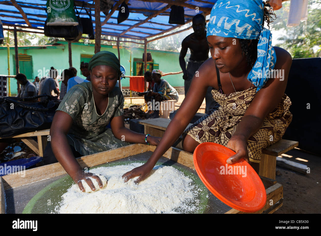
[[[134,162],[144,163],[151,156],[152,152],[145,152],[122,158],[116,161],[91,167],[90,169],[103,166],[128,165]],[[204,186],[197,176],[195,170],[182,164],[171,161],[166,157],[161,157],[157,165],[172,166],[188,178],[192,179],[195,188],[200,188],[194,202],[188,204],[197,205],[196,210],[188,212],[179,207],[173,209],[178,213],[214,213],[221,214],[232,209],[230,206],[222,203]],[[89,169],[89,170],[90,170]],[[55,209],[59,208],[62,201],[62,195],[74,184],[69,175],[60,175],[54,178],[41,180],[17,188],[5,190],[6,213],[30,213],[30,214],[50,214],[57,213]]]

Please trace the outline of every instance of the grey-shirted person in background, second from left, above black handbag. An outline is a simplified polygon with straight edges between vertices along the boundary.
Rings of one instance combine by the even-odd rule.
[[[48,77],[43,77],[39,83],[39,92],[38,94],[48,94],[51,99],[56,100],[59,96],[59,91],[56,87],[56,81],[55,79],[53,79],[52,77],[55,76],[55,74],[57,73],[56,70],[50,70],[49,72],[49,76]],[[52,96],[51,93],[55,92],[55,94],[57,94],[57,96]],[[46,100],[46,97],[41,97],[38,99],[39,101],[44,101]]]

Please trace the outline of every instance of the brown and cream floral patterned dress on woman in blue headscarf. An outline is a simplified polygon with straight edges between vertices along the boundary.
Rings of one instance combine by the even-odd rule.
[[[213,142],[227,146],[255,94],[255,87],[231,94],[222,94],[213,89],[213,98],[219,106],[197,120],[184,133],[199,143]],[[290,98],[284,94],[277,107],[264,119],[259,131],[247,140],[251,162],[260,162],[262,149],[282,138],[292,120],[290,105]]]

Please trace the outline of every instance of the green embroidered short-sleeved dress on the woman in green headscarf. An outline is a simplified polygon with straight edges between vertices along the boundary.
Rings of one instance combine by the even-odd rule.
[[[82,155],[90,155],[123,147],[129,143],[117,139],[106,128],[113,117],[124,114],[124,96],[119,87],[108,94],[108,106],[100,116],[96,112],[91,82],[74,85],[65,95],[57,110],[73,118],[67,139]]]

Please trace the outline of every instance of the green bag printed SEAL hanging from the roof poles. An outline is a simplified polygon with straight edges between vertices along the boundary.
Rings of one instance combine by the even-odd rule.
[[[78,25],[74,0],[47,0],[47,25]]]

